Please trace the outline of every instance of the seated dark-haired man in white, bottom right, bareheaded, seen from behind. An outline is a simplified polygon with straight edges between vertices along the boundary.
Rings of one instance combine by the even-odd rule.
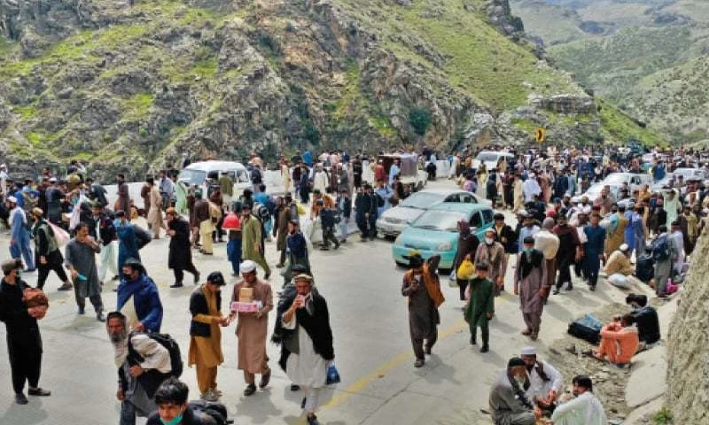
[[[604,406],[593,394],[593,383],[588,376],[573,378],[573,395],[576,398],[558,405],[551,414],[554,425],[606,425]]]

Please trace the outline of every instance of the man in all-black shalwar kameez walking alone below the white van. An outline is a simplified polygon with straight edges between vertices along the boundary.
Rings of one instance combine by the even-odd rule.
[[[168,220],[167,233],[170,236],[170,247],[168,251],[168,267],[172,268],[175,274],[175,283],[170,288],[180,288],[183,286],[184,271],[187,270],[194,275],[194,283],[199,283],[199,272],[192,263],[192,251],[190,246],[190,223],[183,219],[183,216],[169,207],[165,213]]]

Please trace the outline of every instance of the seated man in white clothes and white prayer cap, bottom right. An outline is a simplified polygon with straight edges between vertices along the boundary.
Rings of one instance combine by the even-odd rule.
[[[543,410],[553,411],[557,396],[563,390],[564,378],[555,367],[537,359],[537,350],[533,346],[523,347],[519,354],[519,357],[525,361],[526,372],[529,375],[527,397],[535,400]]]

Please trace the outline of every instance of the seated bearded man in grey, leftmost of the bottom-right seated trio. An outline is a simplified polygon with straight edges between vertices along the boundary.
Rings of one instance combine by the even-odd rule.
[[[513,357],[490,388],[490,414],[495,425],[534,425],[541,410],[525,391],[529,388],[525,360]]]

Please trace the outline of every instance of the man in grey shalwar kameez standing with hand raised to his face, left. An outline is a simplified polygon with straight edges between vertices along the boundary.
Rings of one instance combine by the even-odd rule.
[[[89,236],[89,226],[86,223],[79,223],[76,226],[76,236],[66,243],[64,258],[74,280],[74,296],[76,305],[79,306],[79,314],[84,313],[84,305],[88,297],[96,310],[97,321],[105,321],[101,283],[98,281],[96,267],[96,254],[99,252],[101,252],[101,245]]]

